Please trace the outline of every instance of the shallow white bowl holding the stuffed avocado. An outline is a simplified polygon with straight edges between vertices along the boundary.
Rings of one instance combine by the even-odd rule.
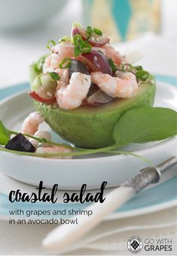
[[[166,83],[157,83],[156,105],[176,108],[177,89]],[[32,100],[26,92],[18,93],[0,104],[0,120],[14,130],[20,130],[22,120],[34,111]],[[49,127],[47,126],[47,129]],[[150,159],[154,164],[177,154],[177,137],[163,142],[129,145],[131,150]],[[124,155],[88,155],[70,160],[35,158],[0,152],[0,167],[3,173],[15,180],[37,186],[42,180],[50,188],[54,183],[60,189],[81,189],[83,183],[88,189],[98,189],[103,181],[108,187],[117,186],[147,166],[139,158]]]

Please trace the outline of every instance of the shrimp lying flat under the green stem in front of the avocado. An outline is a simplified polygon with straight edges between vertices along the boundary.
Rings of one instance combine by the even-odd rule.
[[[72,149],[66,148],[64,146],[56,146],[49,148],[37,148],[36,153],[69,153],[72,152]],[[56,157],[48,157],[48,158],[57,158],[57,159],[71,159],[72,156],[56,156]]]

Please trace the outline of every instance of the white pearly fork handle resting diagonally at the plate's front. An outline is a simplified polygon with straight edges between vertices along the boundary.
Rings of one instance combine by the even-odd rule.
[[[42,245],[50,251],[62,251],[69,247],[70,244],[80,239],[85,233],[93,229],[99,224],[105,216],[121,207],[127,202],[135,193],[132,187],[121,186],[110,192],[103,203],[94,203],[90,207],[84,209],[85,211],[93,211],[90,217],[79,215],[77,224],[64,224],[53,229],[47,237],[43,240]],[[75,219],[75,218],[72,218]]]

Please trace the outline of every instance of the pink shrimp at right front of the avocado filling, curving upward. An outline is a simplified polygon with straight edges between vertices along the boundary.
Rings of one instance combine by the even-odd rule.
[[[130,98],[138,92],[138,83],[133,73],[121,72],[120,78],[107,73],[92,72],[91,80],[102,92],[114,98]]]

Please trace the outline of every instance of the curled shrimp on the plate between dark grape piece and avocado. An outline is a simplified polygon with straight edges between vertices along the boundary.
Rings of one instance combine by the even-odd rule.
[[[34,135],[40,123],[44,122],[44,117],[39,112],[32,112],[23,122],[22,133]]]

